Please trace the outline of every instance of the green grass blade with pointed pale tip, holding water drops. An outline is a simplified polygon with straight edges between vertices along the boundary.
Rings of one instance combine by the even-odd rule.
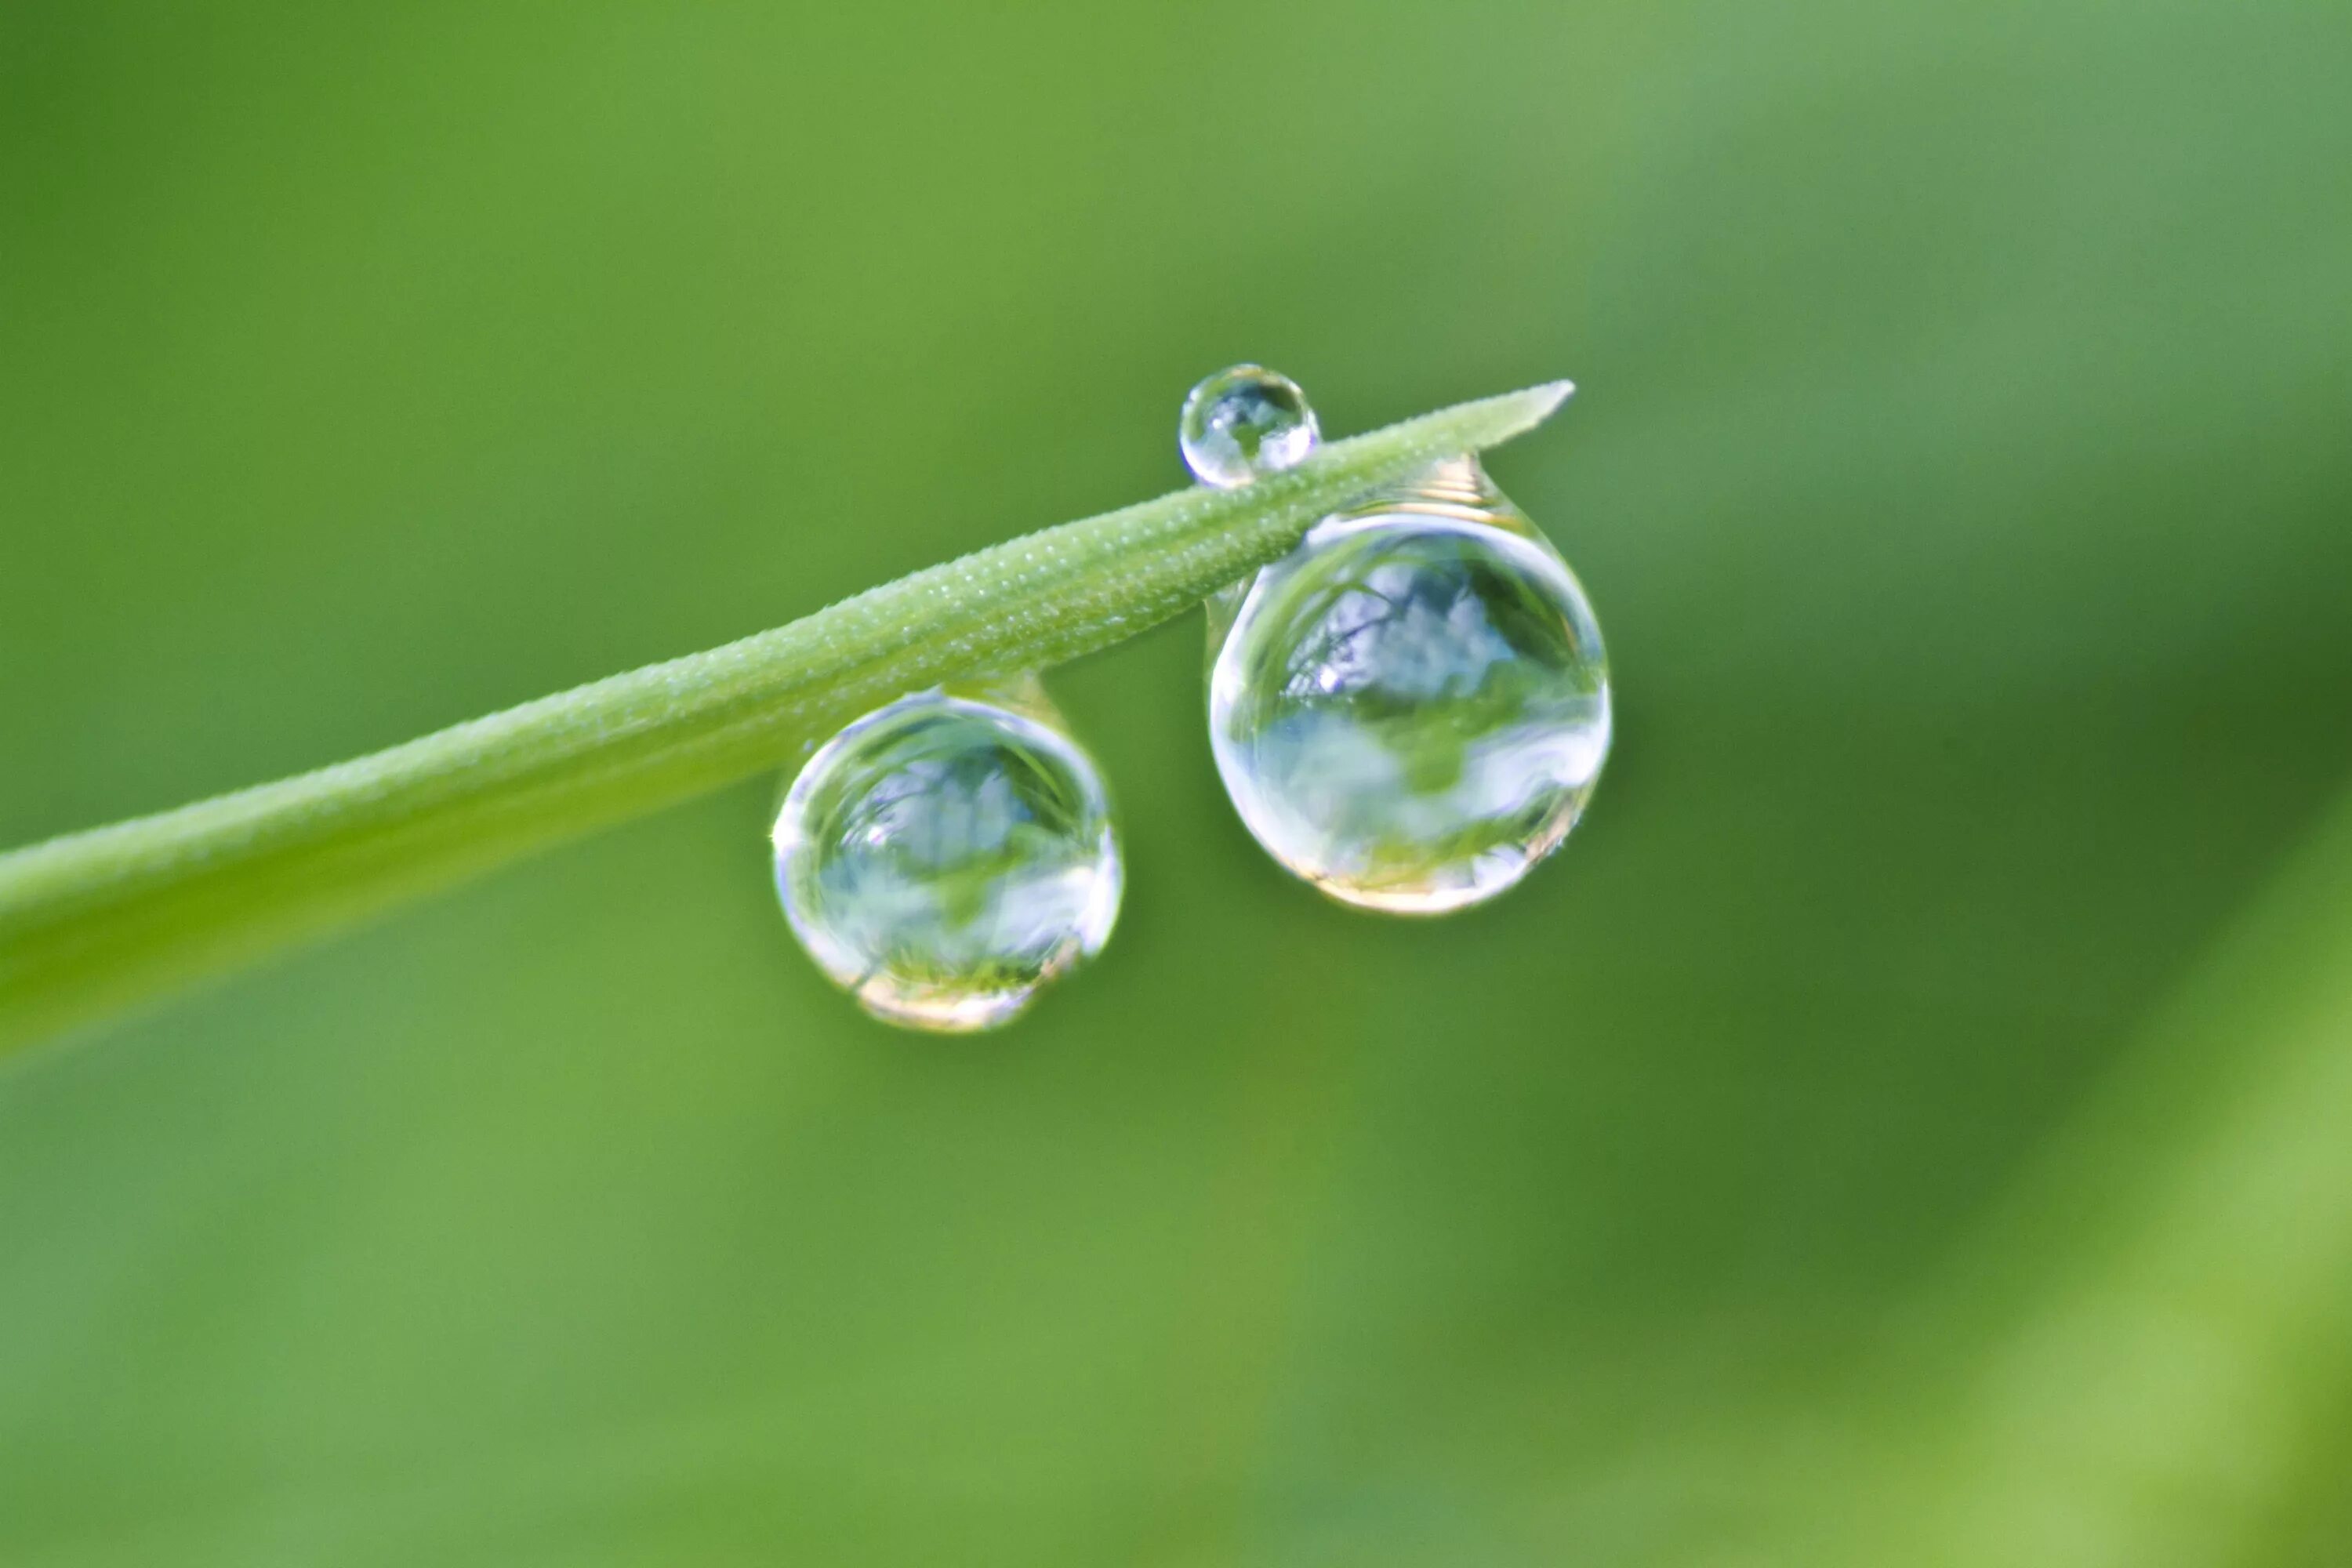
[[[1232,491],[1025,534],[708,654],[0,856],[0,1051],[779,766],[906,691],[1077,658],[1364,489],[1541,423],[1566,383],[1336,442]]]

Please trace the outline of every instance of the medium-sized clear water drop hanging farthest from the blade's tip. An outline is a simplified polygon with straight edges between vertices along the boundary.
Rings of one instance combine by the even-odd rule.
[[[1094,762],[1035,684],[927,691],[828,741],[776,816],[776,893],[809,957],[917,1030],[990,1030],[1103,947],[1120,846]]]

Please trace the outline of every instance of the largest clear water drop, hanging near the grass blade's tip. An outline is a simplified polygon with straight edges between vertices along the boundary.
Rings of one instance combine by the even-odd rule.
[[[1475,461],[1327,517],[1209,609],[1225,792],[1324,893],[1458,910],[1576,825],[1609,755],[1599,625]]]

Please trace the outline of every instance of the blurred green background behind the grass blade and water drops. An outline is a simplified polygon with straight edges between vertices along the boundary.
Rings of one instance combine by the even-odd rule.
[[[7,1563],[2296,1563],[2352,1537],[2340,5],[0,7],[0,842],[1573,376],[1618,682],[1442,924],[1054,677],[1014,1032],[774,780],[0,1074]]]

